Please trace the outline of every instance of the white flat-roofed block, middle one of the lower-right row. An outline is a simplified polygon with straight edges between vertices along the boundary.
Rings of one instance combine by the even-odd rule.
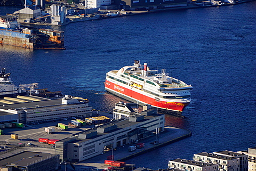
[[[217,164],[219,165],[220,171],[227,171],[227,170],[238,171],[239,163],[240,163],[240,159],[238,158],[221,156],[218,154],[207,153],[207,152],[194,154],[193,160],[207,162],[211,164]]]

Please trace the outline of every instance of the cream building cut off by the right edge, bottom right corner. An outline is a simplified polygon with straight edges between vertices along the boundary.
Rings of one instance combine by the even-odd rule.
[[[256,171],[256,147],[248,148],[246,151],[237,151],[240,154],[246,154],[248,156],[248,170]]]

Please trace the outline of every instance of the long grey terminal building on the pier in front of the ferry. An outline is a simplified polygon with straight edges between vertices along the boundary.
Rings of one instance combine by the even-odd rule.
[[[63,161],[83,161],[101,154],[106,148],[116,148],[138,142],[147,136],[159,136],[164,131],[164,115],[147,109],[142,115],[117,119],[108,124],[73,134],[55,143],[55,150]]]

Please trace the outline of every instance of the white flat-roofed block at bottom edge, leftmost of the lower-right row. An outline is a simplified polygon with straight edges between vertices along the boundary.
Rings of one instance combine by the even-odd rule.
[[[217,164],[210,164],[207,162],[192,161],[186,159],[174,159],[168,162],[169,169],[181,169],[188,171],[218,171],[219,166]]]

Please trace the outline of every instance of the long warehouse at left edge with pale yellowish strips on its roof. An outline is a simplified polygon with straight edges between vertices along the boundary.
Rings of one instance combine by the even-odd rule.
[[[37,96],[4,97],[0,100],[1,123],[36,123],[70,117],[91,117],[92,107],[85,99],[65,96],[45,99]]]

